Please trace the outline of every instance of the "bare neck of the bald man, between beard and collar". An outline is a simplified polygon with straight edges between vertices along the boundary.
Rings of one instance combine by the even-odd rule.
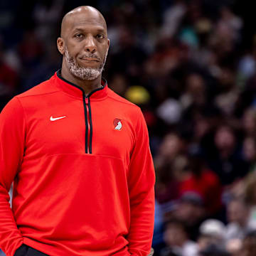
[[[82,90],[85,91],[85,95],[89,95],[90,92],[102,86],[102,75],[99,75],[99,77],[94,80],[82,80],[71,74],[66,65],[62,65],[61,76],[65,78],[65,80],[68,80],[69,82],[72,82],[73,84],[81,87]]]

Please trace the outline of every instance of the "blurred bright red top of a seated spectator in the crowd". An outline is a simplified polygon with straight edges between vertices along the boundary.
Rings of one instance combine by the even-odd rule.
[[[192,175],[181,182],[181,195],[187,191],[194,191],[202,196],[208,213],[214,214],[220,210],[222,188],[218,176],[213,171],[205,169],[201,176]]]

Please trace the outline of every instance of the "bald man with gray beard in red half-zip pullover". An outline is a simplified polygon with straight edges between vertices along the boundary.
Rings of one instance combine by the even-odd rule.
[[[139,107],[102,78],[110,47],[102,14],[70,11],[57,46],[62,68],[0,114],[0,247],[7,256],[146,256],[149,137]]]

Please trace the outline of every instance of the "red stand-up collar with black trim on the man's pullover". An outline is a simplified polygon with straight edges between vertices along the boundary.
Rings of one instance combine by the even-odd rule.
[[[81,87],[73,84],[73,82],[65,80],[65,78],[61,76],[61,69],[55,72],[54,78],[57,82],[58,87],[60,87],[60,89],[64,92],[67,92],[74,97],[85,97],[85,91],[82,90]],[[105,78],[102,78],[101,84],[102,87],[93,90],[92,92],[90,92],[89,95],[87,95],[88,97],[90,97],[90,100],[103,100],[105,97],[107,97],[107,80],[105,80]]]

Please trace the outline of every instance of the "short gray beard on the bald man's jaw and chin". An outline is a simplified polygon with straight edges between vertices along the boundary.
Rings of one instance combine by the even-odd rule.
[[[107,60],[107,53],[105,55],[104,60],[100,64],[99,68],[82,68],[76,60],[71,57],[68,53],[68,49],[65,47],[64,51],[65,61],[68,65],[68,69],[70,70],[70,73],[72,73],[76,78],[80,78],[82,80],[95,80],[98,78],[102,71],[104,70],[104,66]],[[95,58],[93,54],[88,54],[86,56],[87,58]]]

